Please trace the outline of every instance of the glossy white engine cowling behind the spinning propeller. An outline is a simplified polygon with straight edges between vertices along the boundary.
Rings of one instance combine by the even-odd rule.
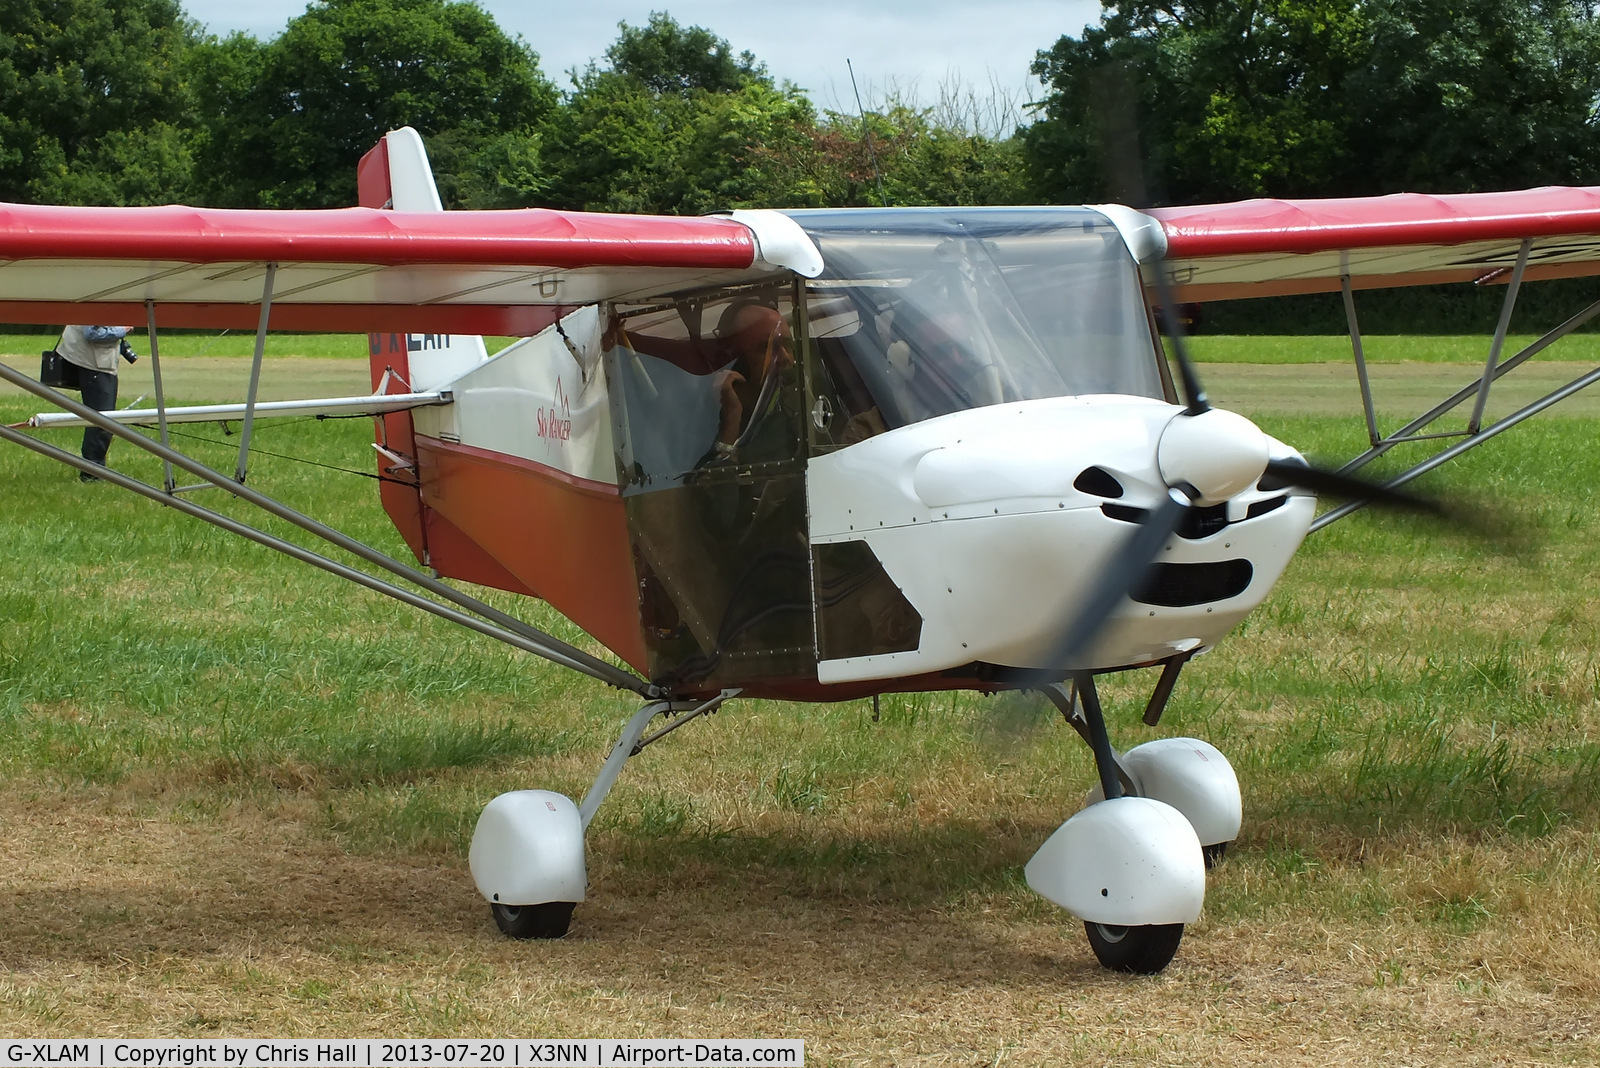
[[[1160,563],[1248,560],[1235,596],[1165,608],[1125,601],[1085,662],[1046,664],[1101,566],[1134,529],[1101,505],[1154,508],[1166,496],[1157,449],[1181,409],[1136,397],[1061,397],[979,408],[901,427],[808,467],[811,542],[864,540],[922,614],[914,651],[824,660],[822,683],[941,671],[971,662],[1107,668],[1214,644],[1277,582],[1310,524],[1315,500],[1248,488],[1234,520],[1197,540],[1173,537]],[[1259,433],[1259,432],[1256,432]],[[1274,457],[1296,456],[1269,441]],[[1123,496],[1074,486],[1088,467]]]

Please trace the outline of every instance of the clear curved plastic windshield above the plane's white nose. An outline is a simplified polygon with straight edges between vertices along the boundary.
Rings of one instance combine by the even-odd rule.
[[[810,333],[883,428],[1005,401],[1163,397],[1138,267],[1088,208],[794,211],[826,269]]]

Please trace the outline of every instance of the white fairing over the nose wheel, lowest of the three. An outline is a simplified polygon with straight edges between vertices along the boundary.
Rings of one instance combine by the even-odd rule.
[[[1022,873],[1040,895],[1088,923],[1189,924],[1205,902],[1194,827],[1150,798],[1091,804],[1056,828]]]

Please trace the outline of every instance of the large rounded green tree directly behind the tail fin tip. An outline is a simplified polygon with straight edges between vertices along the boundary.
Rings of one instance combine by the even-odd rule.
[[[525,203],[546,181],[536,126],[555,88],[470,2],[315,0],[269,43],[197,46],[194,70],[213,203],[355,203],[355,160],[403,125],[427,139],[450,206]]]

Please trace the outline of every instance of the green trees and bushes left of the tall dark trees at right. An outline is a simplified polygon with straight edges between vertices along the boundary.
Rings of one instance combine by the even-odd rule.
[[[10,201],[344,206],[402,125],[451,208],[864,205],[880,181],[890,203],[1026,198],[1010,131],[901,101],[821,110],[664,13],[565,88],[466,0],[322,0],[269,42],[205,35],[178,0],[6,0],[0,29]]]

